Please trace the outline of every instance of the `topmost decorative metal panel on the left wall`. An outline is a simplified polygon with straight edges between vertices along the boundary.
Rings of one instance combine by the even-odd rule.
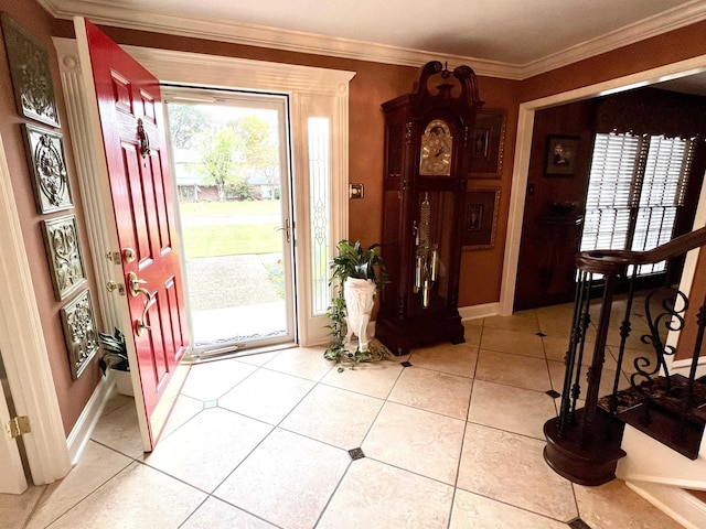
[[[58,127],[46,48],[7,13],[2,13],[1,22],[18,112]]]

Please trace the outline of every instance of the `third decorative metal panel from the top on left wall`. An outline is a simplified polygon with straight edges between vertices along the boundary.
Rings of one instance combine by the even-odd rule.
[[[54,293],[61,301],[86,282],[76,216],[66,215],[43,220],[42,225]]]

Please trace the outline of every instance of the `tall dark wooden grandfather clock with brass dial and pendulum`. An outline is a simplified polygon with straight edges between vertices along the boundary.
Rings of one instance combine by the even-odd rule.
[[[413,91],[383,104],[381,255],[391,283],[375,335],[395,354],[464,342],[458,312],[461,230],[478,97],[468,66],[426,64]],[[470,222],[470,220],[469,220]]]

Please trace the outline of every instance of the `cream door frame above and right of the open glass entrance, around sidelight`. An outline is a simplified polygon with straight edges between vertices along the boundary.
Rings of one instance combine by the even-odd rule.
[[[289,96],[292,142],[292,185],[296,268],[312,270],[309,208],[309,118],[325,117],[331,122],[330,226],[332,252],[335,244],[347,238],[349,229],[349,83],[354,72],[314,68],[291,64],[267,63],[237,57],[204,55],[191,52],[122,46],[161,83],[210,88],[274,91]],[[298,277],[302,274],[298,272]],[[321,344],[329,339],[325,313],[313,310],[311,281],[297,281],[297,327],[301,345]]]

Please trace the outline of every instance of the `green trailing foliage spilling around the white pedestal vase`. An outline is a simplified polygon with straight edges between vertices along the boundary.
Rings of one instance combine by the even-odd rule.
[[[350,242],[343,239],[336,245],[339,255],[329,264],[331,270],[329,285],[333,285],[333,298],[327,310],[330,322],[327,328],[330,330],[331,342],[323,357],[335,364],[349,364],[351,369],[355,369],[360,363],[382,360],[389,354],[382,344],[370,346],[370,350],[356,348],[355,352],[350,352],[344,347],[347,325],[343,284],[349,278],[371,279],[375,281],[377,290],[385,288],[388,276],[383,258],[377,253],[378,247],[379,245],[372,245],[363,248],[360,241]],[[339,373],[343,370],[344,367],[339,366]]]

